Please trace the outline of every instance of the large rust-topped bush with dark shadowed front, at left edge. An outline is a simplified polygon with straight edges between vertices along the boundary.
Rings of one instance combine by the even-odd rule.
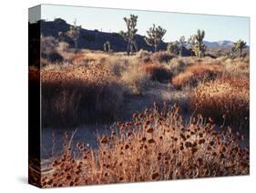
[[[43,68],[44,126],[112,121],[122,104],[122,86],[103,66]]]

